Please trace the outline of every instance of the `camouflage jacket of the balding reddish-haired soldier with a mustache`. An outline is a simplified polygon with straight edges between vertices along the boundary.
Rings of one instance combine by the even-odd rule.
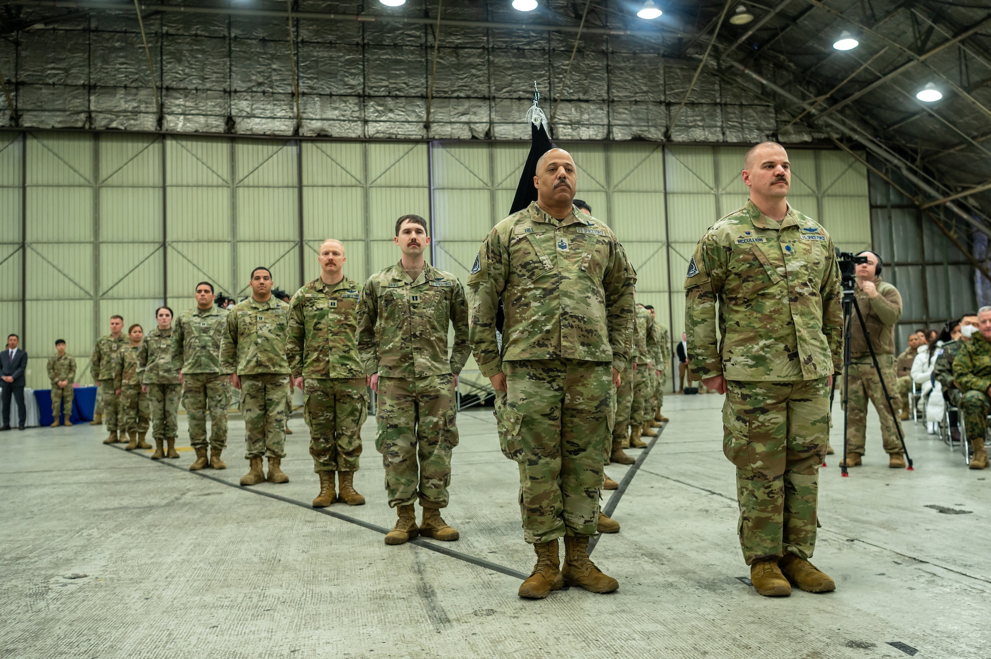
[[[317,277],[289,301],[285,356],[292,377],[362,378],[358,357],[358,283],[344,277],[325,284]]]

